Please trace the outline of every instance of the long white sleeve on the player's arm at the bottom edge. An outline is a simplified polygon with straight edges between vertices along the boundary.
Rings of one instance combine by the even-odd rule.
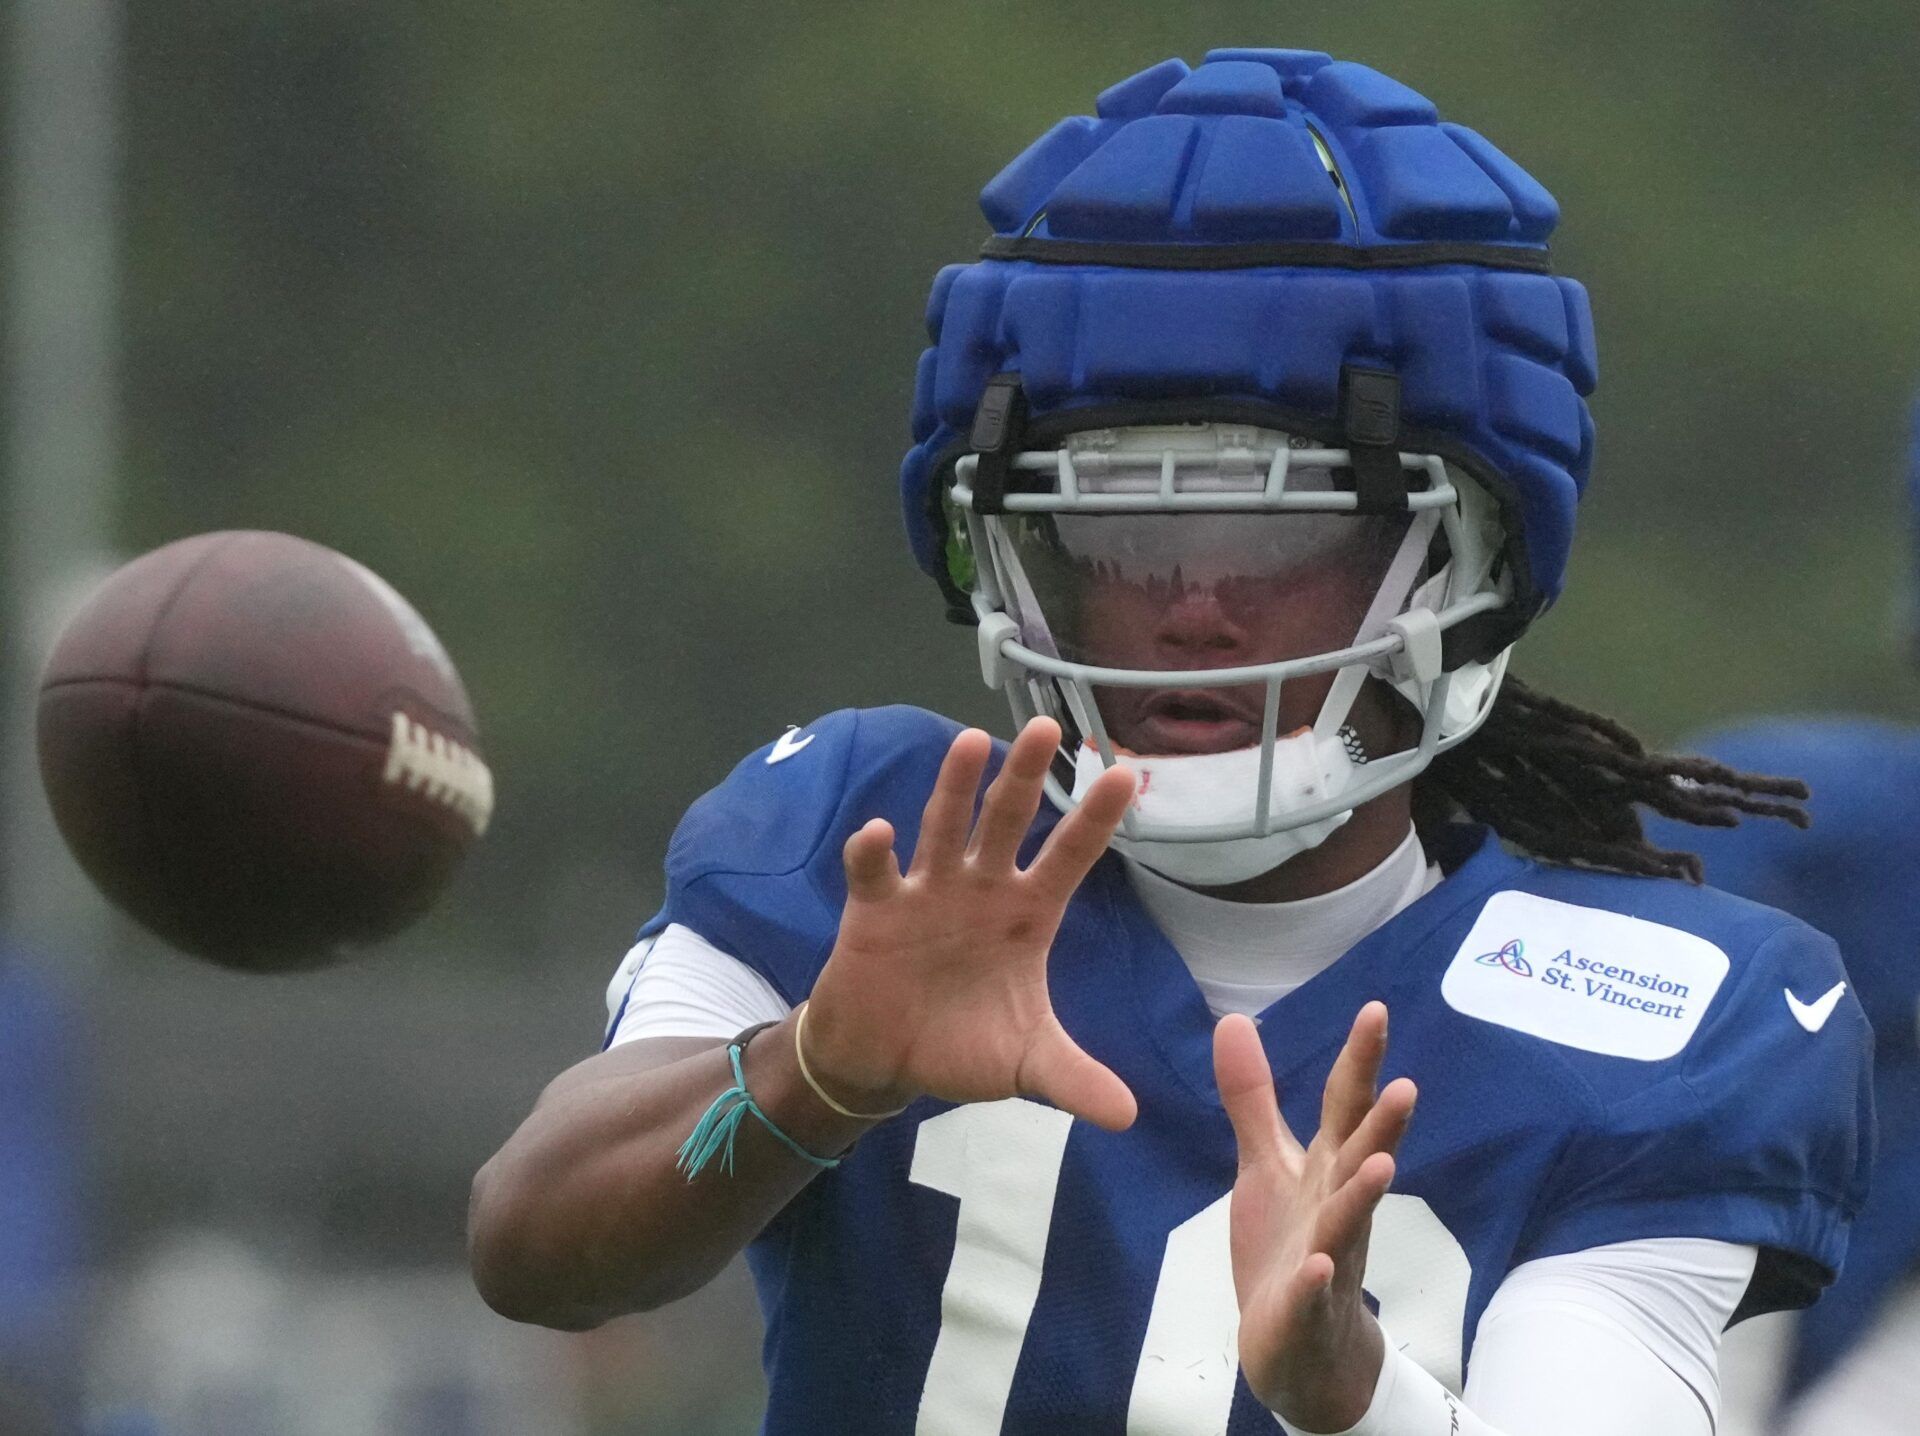
[[[1720,1332],[1757,1259],[1661,1236],[1528,1261],[1480,1317],[1465,1398],[1388,1332],[1373,1403],[1338,1436],[1713,1436]]]

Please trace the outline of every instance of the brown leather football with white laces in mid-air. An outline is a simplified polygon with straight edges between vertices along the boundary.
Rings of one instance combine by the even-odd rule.
[[[94,883],[250,971],[411,923],[493,808],[440,639],[376,574],[288,534],[200,534],[108,578],[54,645],[38,735]]]

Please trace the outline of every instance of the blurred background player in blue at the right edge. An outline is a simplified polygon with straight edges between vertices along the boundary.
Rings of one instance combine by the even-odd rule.
[[[1920,403],[1907,497],[1920,545]],[[1920,562],[1908,572],[1907,641],[1920,660]],[[1736,768],[1795,774],[1812,789],[1811,831],[1690,831],[1715,887],[1782,908],[1839,943],[1874,1025],[1880,1148],[1847,1265],[1816,1307],[1740,1361],[1741,1421],[1788,1436],[1893,1436],[1920,1413],[1920,730],[1870,718],[1761,718],[1703,735]],[[1663,824],[1659,841],[1678,841]],[[1736,1352],[1745,1348],[1736,1342]],[[1776,1359],[1778,1357],[1778,1359]],[[1768,1407],[1772,1407],[1768,1411]],[[1730,1426],[1745,1436],[1747,1426]]]

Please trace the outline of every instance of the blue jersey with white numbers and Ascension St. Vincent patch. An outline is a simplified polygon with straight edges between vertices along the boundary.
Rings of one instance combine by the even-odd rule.
[[[684,923],[799,1002],[833,946],[843,841],[879,816],[908,850],[956,731],[847,710],[749,756],[682,822],[645,931]],[[1647,1236],[1755,1244],[1747,1311],[1809,1302],[1841,1261],[1872,1127],[1860,1010],[1809,1031],[1782,998],[1841,979],[1834,945],[1722,893],[1528,862],[1484,829],[1432,849],[1434,891],[1260,1016],[1306,1138],[1354,1014],[1392,1010],[1386,1077],[1421,1085],[1365,1275],[1392,1340],[1457,1386],[1507,1271]],[[1139,1121],[922,1100],[868,1133],[747,1252],[766,1432],[1271,1436],[1235,1361],[1213,1017],[1114,854],[1048,983]]]

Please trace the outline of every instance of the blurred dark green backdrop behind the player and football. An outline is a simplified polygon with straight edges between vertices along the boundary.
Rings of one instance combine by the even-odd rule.
[[[113,539],[282,528],[386,574],[467,676],[499,816],[363,968],[246,985],[127,933],[86,968],[108,1284],[186,1225],[301,1233],[284,1261],[315,1280],[457,1263],[465,1175],[593,1048],[697,793],[843,705],[1006,728],[900,534],[925,286],[977,248],[1006,159],[1169,54],[1363,60],[1561,200],[1599,449],[1519,672],[1663,739],[1920,712],[1895,616],[1920,380],[1903,0],[204,0],[119,23]],[[455,1092],[467,1115],[438,1121]],[[238,1152],[211,1150],[211,1110]],[[248,1154],[328,1121],[351,1131]],[[737,1284],[714,1302],[601,1338],[593,1430],[751,1428]],[[735,1361],[674,1346],[699,1321]]]

